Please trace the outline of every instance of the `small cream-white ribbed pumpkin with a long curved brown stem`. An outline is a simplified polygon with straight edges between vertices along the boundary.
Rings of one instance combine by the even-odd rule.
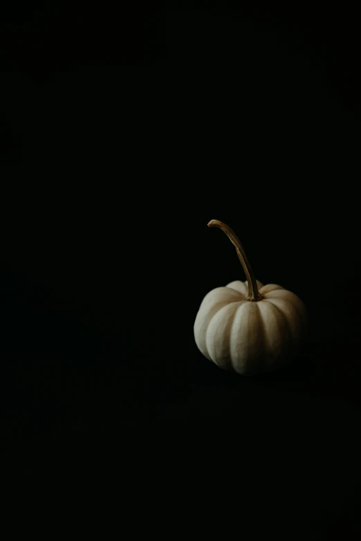
[[[247,281],[216,287],[205,295],[194,322],[194,339],[219,368],[239,374],[275,370],[299,351],[306,336],[306,307],[294,293],[256,280],[239,238],[228,225],[211,220],[236,247]]]

